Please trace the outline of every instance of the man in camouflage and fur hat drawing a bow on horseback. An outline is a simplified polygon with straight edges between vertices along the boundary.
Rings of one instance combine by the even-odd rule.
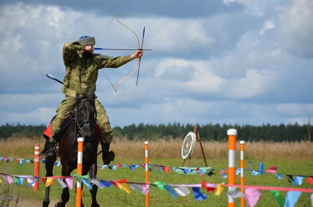
[[[76,93],[91,95],[96,91],[96,81],[98,70],[101,68],[118,68],[135,58],[140,58],[143,51],[137,50],[134,54],[121,57],[109,57],[95,54],[95,38],[83,36],[75,42],[65,43],[63,47],[63,61],[66,69],[62,92],[65,94],[64,100],[57,107],[57,115],[51,126],[50,149],[45,154],[45,159],[55,161],[56,141],[53,139],[64,124],[64,120],[69,116],[69,112],[76,104]],[[115,154],[109,151],[110,143],[113,139],[112,129],[108,116],[103,105],[95,98],[96,117],[100,131],[100,144],[102,148],[102,160],[104,164],[110,164],[114,160]]]

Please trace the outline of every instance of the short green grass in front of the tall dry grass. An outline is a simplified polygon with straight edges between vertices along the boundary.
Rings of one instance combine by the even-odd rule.
[[[99,157],[100,158],[100,157]],[[98,160],[100,163],[100,160]],[[120,164],[139,164],[143,163],[144,159],[116,159]],[[151,163],[162,164],[165,166],[180,166],[182,164],[181,159],[150,159]],[[246,160],[248,161],[248,160]],[[261,160],[250,160],[254,164],[254,169],[259,168],[259,163]],[[313,174],[312,165],[313,161],[280,161],[280,160],[267,160],[264,161],[264,170],[270,166],[277,166],[278,173],[289,173],[289,174]],[[204,166],[203,160],[192,159],[192,166]],[[214,169],[226,169],[228,165],[228,160],[223,159],[211,159],[208,160],[208,165]],[[239,166],[239,160],[237,162]],[[246,166],[248,167],[248,166]],[[18,163],[11,161],[9,163],[0,162],[0,172],[16,175],[30,175],[33,174],[33,164],[27,164],[26,162],[21,167]],[[74,171],[72,174],[74,174]],[[247,185],[263,185],[263,186],[281,186],[281,187],[293,187],[287,179],[284,177],[283,180],[276,179],[275,175],[264,174],[262,176],[256,175],[252,176],[249,171],[245,171],[245,184]],[[54,166],[54,175],[61,175],[61,166]],[[45,176],[44,164],[40,164],[40,176]],[[145,182],[145,169],[140,167],[132,171],[127,168],[118,168],[116,170],[110,170],[105,168],[103,170],[98,169],[99,179],[115,180],[115,179],[128,179],[132,182]],[[236,176],[236,183],[240,183],[240,176]],[[167,184],[199,184],[205,179],[207,182],[211,183],[227,183],[228,179],[223,179],[221,175],[215,173],[213,176],[199,176],[199,175],[177,175],[173,169],[170,169],[166,174],[162,171],[161,174],[158,170],[150,172],[150,181],[164,181]],[[306,183],[304,179],[302,185],[298,186],[300,188],[313,188],[312,185]],[[74,182],[75,183],[75,182]],[[20,200],[33,200],[42,202],[44,199],[45,186],[42,182],[39,184],[39,191],[34,193],[33,188],[27,188],[27,182],[24,181],[22,186],[14,185],[15,191],[20,194]],[[207,193],[204,189],[202,192],[208,195],[208,199],[205,201],[197,201],[193,198],[191,194],[185,197],[178,197],[173,199],[170,194],[166,191],[161,191],[155,187],[150,187],[149,189],[149,199],[150,206],[227,206],[227,189],[224,189],[221,196],[215,196],[214,193]],[[57,181],[51,186],[50,190],[50,205],[54,206],[54,202],[60,200],[62,189],[59,188],[59,183]],[[285,192],[282,192],[285,197]],[[141,193],[131,190],[130,194],[122,191],[121,189],[112,186],[111,188],[98,189],[97,200],[100,206],[145,206],[145,196]],[[52,202],[53,201],[53,202]],[[83,201],[85,206],[90,206],[91,196],[86,187],[83,189]],[[75,206],[75,190],[70,190],[70,201],[68,206]],[[236,199],[237,206],[240,206],[240,199]],[[278,206],[273,196],[269,191],[262,191],[259,202],[256,206]],[[310,206],[310,194],[301,194],[298,202],[295,206]]]

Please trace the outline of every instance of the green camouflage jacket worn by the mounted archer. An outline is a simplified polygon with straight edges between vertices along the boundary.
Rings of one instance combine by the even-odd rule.
[[[109,57],[93,54],[92,58],[85,58],[80,52],[85,45],[77,41],[65,43],[63,46],[63,61],[66,75],[63,81],[62,92],[71,97],[77,93],[91,95],[96,91],[98,70],[101,68],[118,68],[132,60],[131,56]]]

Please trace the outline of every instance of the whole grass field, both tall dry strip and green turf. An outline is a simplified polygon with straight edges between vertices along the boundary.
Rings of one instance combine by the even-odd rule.
[[[0,156],[12,157],[12,158],[32,158],[33,157],[33,146],[34,143],[40,141],[43,144],[43,140],[36,139],[19,139],[15,141],[3,142],[0,141]],[[260,143],[248,143],[246,144],[245,160],[254,163],[254,169],[259,168],[259,163],[264,163],[264,168],[270,166],[277,166],[278,173],[289,173],[289,174],[313,174],[313,159],[312,159],[312,143],[272,143],[274,146],[269,146],[265,142]],[[177,146],[175,146],[177,145]],[[196,144],[196,146],[199,144]],[[213,147],[212,147],[213,145]],[[256,146],[254,146],[256,145]],[[43,146],[43,145],[41,145]],[[150,142],[150,154],[149,161],[154,164],[162,164],[165,166],[180,166],[182,159],[179,159],[179,153],[181,148],[181,141],[170,140],[169,142]],[[175,147],[174,147],[175,146]],[[250,148],[258,149],[251,151]],[[208,159],[208,165],[214,169],[226,169],[228,165],[227,156],[227,143],[204,143],[205,153]],[[223,148],[223,149],[222,149]],[[226,148],[226,149],[224,149]],[[273,148],[273,149],[272,149]],[[276,151],[274,150],[276,148]],[[304,148],[304,149],[303,149]],[[112,164],[140,164],[144,163],[144,146],[143,143],[139,142],[128,142],[128,141],[115,141],[112,144],[112,149],[115,150],[117,157]],[[238,148],[239,149],[239,148]],[[201,152],[201,151],[200,151]],[[178,154],[178,155],[177,155]],[[194,157],[199,157],[199,149],[195,149]],[[252,155],[251,155],[252,154]],[[200,154],[201,155],[201,154]],[[302,158],[301,158],[302,156]],[[99,156],[100,158],[100,156]],[[100,159],[98,160],[100,163]],[[237,159],[237,166],[239,166],[239,159]],[[202,159],[192,159],[192,166],[204,166]],[[9,174],[33,174],[33,164],[23,164],[21,167],[16,162],[0,162],[0,172]],[[73,172],[74,174],[75,172]],[[61,174],[61,167],[54,167],[54,175]],[[44,164],[40,164],[40,176],[45,175]],[[132,171],[129,168],[120,168],[116,170],[110,170],[105,168],[98,170],[98,178],[115,180],[115,179],[128,179],[133,182],[144,182],[145,181],[145,169],[138,168]],[[162,171],[161,174],[157,170],[150,172],[150,181],[164,181],[167,184],[198,184],[203,179],[207,182],[212,183],[227,183],[227,179],[223,179],[220,175],[214,174],[213,176],[199,176],[199,175],[177,175],[173,169],[170,169],[169,173]],[[313,186],[304,183],[298,187],[301,188],[312,188]],[[26,181],[25,181],[26,182]],[[240,182],[239,175],[237,176],[237,183]],[[264,185],[264,186],[283,186],[293,187],[287,179],[284,177],[283,180],[276,179],[275,175],[264,174],[262,176],[252,176],[249,171],[245,174],[245,184],[247,185]],[[45,186],[43,183],[39,184],[39,191],[33,192],[33,188],[27,188],[27,184],[22,186],[14,186],[15,191],[19,192],[21,202],[28,203],[28,206],[40,206],[44,198]],[[51,186],[50,191],[50,205],[54,206],[56,201],[60,200],[62,189],[59,188],[59,184],[55,182]],[[185,197],[178,197],[173,199],[170,194],[166,191],[160,191],[155,187],[150,187],[150,206],[227,206],[227,189],[224,190],[223,194],[219,197],[213,193],[205,193],[208,195],[208,199],[205,201],[197,201],[193,198],[192,193]],[[204,193],[204,191],[202,190]],[[286,193],[282,192],[285,196]],[[70,190],[70,201],[68,206],[74,206],[75,201],[75,190]],[[83,190],[83,200],[85,206],[90,206],[91,198],[90,193],[86,187]],[[97,196],[98,203],[100,206],[144,206],[145,197],[141,193],[131,190],[130,194],[113,186],[112,188],[104,188],[98,190]],[[240,199],[236,200],[237,205],[240,203]],[[23,203],[21,203],[23,204]],[[26,206],[20,205],[20,206]],[[278,206],[273,196],[268,191],[262,191],[261,197],[257,206]],[[299,201],[296,206],[310,206],[310,194],[301,194]]]

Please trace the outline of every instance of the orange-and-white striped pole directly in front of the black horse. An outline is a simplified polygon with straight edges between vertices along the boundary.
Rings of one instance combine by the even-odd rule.
[[[84,138],[77,138],[78,150],[77,150],[77,174],[83,174],[83,146]],[[81,207],[81,180],[76,183],[76,207]]]

